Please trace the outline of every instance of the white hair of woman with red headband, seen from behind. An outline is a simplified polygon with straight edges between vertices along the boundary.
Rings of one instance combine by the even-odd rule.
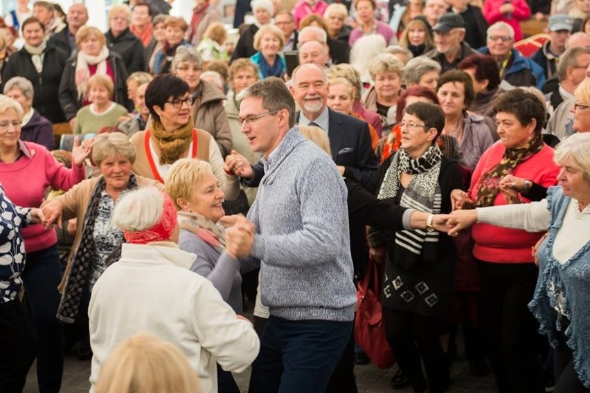
[[[125,194],[116,204],[111,226],[125,232],[137,232],[154,226],[162,217],[164,197],[155,187],[144,187]]]

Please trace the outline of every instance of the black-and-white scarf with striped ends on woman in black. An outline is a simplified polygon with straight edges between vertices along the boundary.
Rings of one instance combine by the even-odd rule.
[[[418,158],[411,158],[405,149],[397,150],[385,173],[378,198],[394,198],[400,190],[400,174],[405,172],[412,174],[413,177],[400,198],[400,206],[421,212],[440,213],[442,197],[438,174],[440,174],[441,162],[442,153],[436,144],[431,145]],[[422,258],[434,259],[436,257],[435,247],[429,247],[429,250],[424,249],[424,255],[420,257],[424,241],[430,245],[436,244],[438,232],[418,229],[395,232],[395,248],[391,259],[396,264],[403,264],[408,268],[415,266]]]

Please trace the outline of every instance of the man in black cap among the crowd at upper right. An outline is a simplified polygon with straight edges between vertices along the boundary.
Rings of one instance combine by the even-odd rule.
[[[447,12],[438,19],[432,28],[436,48],[424,53],[425,56],[438,62],[442,73],[457,68],[461,60],[476,53],[464,41],[465,21],[455,12]]]

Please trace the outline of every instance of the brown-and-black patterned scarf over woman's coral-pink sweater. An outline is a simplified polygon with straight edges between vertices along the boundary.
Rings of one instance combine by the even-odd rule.
[[[535,136],[530,142],[523,147],[506,149],[500,162],[492,167],[488,172],[483,174],[479,179],[477,188],[477,200],[475,205],[478,208],[493,206],[496,195],[500,192],[500,179],[508,174],[512,174],[519,163],[526,161],[528,158],[537,154],[543,149],[543,138],[540,134]]]

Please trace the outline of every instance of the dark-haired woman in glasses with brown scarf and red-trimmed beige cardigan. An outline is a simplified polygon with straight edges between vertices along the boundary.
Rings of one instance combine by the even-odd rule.
[[[220,148],[211,134],[194,127],[189,89],[188,83],[170,74],[158,75],[147,85],[145,105],[152,121],[131,138],[137,151],[133,171],[164,183],[179,158],[199,158],[211,164],[219,188],[231,201],[240,190],[238,178],[224,172]]]

